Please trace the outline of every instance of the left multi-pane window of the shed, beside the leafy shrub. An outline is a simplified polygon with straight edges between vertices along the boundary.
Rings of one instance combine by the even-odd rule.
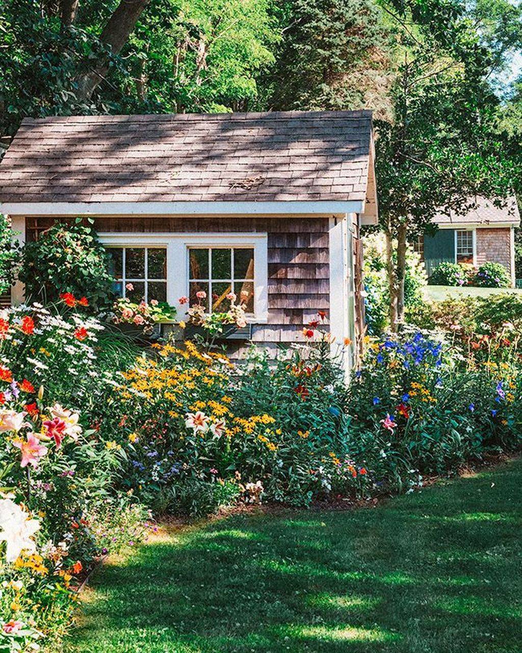
[[[109,247],[114,291],[131,302],[167,301],[166,247]]]

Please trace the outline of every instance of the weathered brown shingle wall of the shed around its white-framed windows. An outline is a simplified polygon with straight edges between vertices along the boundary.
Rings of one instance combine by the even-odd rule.
[[[27,239],[52,219],[27,218]],[[268,234],[267,324],[253,327],[253,342],[304,340],[302,327],[329,311],[329,219],[302,217],[97,217],[98,232],[266,232]],[[328,324],[328,319],[325,321]]]

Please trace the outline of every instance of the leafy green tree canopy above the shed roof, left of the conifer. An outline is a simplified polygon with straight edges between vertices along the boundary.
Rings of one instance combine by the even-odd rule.
[[[152,0],[118,55],[100,42],[114,11],[80,2],[72,25],[56,5],[7,0],[0,9],[0,133],[25,116],[226,112],[257,100],[257,76],[273,63],[280,29],[271,0]],[[108,61],[82,99],[78,76]]]

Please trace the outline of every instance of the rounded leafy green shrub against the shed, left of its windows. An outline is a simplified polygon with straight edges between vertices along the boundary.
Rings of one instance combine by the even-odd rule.
[[[106,306],[114,279],[108,258],[91,225],[56,222],[35,242],[24,246],[20,279],[27,298],[57,302],[62,293],[87,296],[93,308]]]

